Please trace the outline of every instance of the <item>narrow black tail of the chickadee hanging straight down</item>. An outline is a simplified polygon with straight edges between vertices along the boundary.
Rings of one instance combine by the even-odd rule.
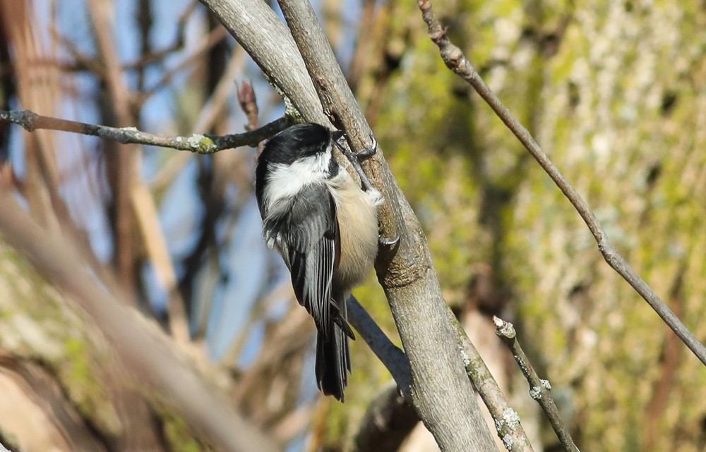
[[[316,381],[319,389],[342,402],[350,370],[348,336],[332,321],[328,340],[321,333],[316,336]]]

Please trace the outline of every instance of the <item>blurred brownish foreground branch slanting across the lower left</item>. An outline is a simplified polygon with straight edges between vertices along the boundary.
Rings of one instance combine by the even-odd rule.
[[[99,286],[76,250],[42,230],[8,192],[0,193],[0,233],[37,271],[65,291],[109,338],[153,406],[173,405],[196,432],[224,451],[275,452],[280,448],[236,413],[191,367],[150,331],[135,312]]]

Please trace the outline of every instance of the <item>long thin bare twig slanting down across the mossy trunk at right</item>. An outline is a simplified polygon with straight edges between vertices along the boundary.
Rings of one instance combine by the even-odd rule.
[[[436,20],[431,9],[431,0],[418,0],[417,4],[421,10],[424,22],[429,26],[429,37],[439,48],[441,58],[446,66],[452,71],[460,75],[463,80],[466,80],[476,92],[486,101],[487,104],[495,111],[498,118],[501,118],[505,126],[508,126],[510,131],[517,137],[523,146],[532,154],[539,166],[551,177],[556,186],[567,197],[569,202],[580,214],[586,226],[590,229],[596,242],[598,249],[603,255],[606,262],[620,275],[628,281],[637,293],[647,301],[652,309],[662,317],[662,320],[669,325],[669,328],[679,336],[681,341],[694,353],[694,355],[706,365],[706,347],[700,343],[693,333],[689,331],[683,322],[676,317],[674,312],[669,309],[669,306],[664,303],[662,298],[655,293],[650,286],[638,275],[638,273],[630,267],[626,259],[618,252],[615,245],[611,242],[604,231],[603,226],[599,223],[596,216],[591,211],[587,202],[583,200],[581,195],[573,188],[566,180],[561,171],[551,162],[549,157],[544,153],[537,142],[532,138],[530,132],[522,126],[520,121],[517,121],[515,116],[500,102],[500,99],[493,93],[488,85],[485,84],[481,76],[473,68],[472,64],[463,55],[461,49],[450,42],[444,28]]]

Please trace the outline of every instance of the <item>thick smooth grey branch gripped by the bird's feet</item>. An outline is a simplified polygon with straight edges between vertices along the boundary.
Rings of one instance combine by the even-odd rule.
[[[362,149],[368,144],[370,128],[311,4],[306,0],[279,0],[279,4],[325,113],[347,131],[352,147]],[[453,326],[419,221],[381,153],[371,160],[366,164],[371,179],[388,201],[381,231],[388,237],[400,235],[395,254],[383,252],[376,270],[409,357],[414,407],[441,451],[494,450],[458,359]]]

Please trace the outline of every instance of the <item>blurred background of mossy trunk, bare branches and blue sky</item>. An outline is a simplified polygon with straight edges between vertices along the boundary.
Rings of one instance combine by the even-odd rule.
[[[706,372],[604,263],[570,204],[469,86],[414,1],[315,0],[424,225],[445,298],[535,451],[557,441],[498,343],[515,322],[585,450],[706,450]],[[706,4],[437,0],[451,39],[706,341]],[[276,6],[273,6],[276,8]],[[250,83],[257,114],[237,97]],[[252,106],[249,102],[248,106]],[[3,0],[0,109],[164,135],[282,116],[257,66],[189,0]],[[346,403],[313,377],[313,322],[261,240],[256,149],[196,156],[0,123],[0,183],[128,294],[205,379],[289,451],[349,450],[391,379],[356,341]],[[111,346],[0,240],[0,443],[13,451],[199,451]],[[393,341],[374,276],[355,295]],[[167,404],[168,405],[168,404]],[[433,451],[423,427],[402,450]]]

